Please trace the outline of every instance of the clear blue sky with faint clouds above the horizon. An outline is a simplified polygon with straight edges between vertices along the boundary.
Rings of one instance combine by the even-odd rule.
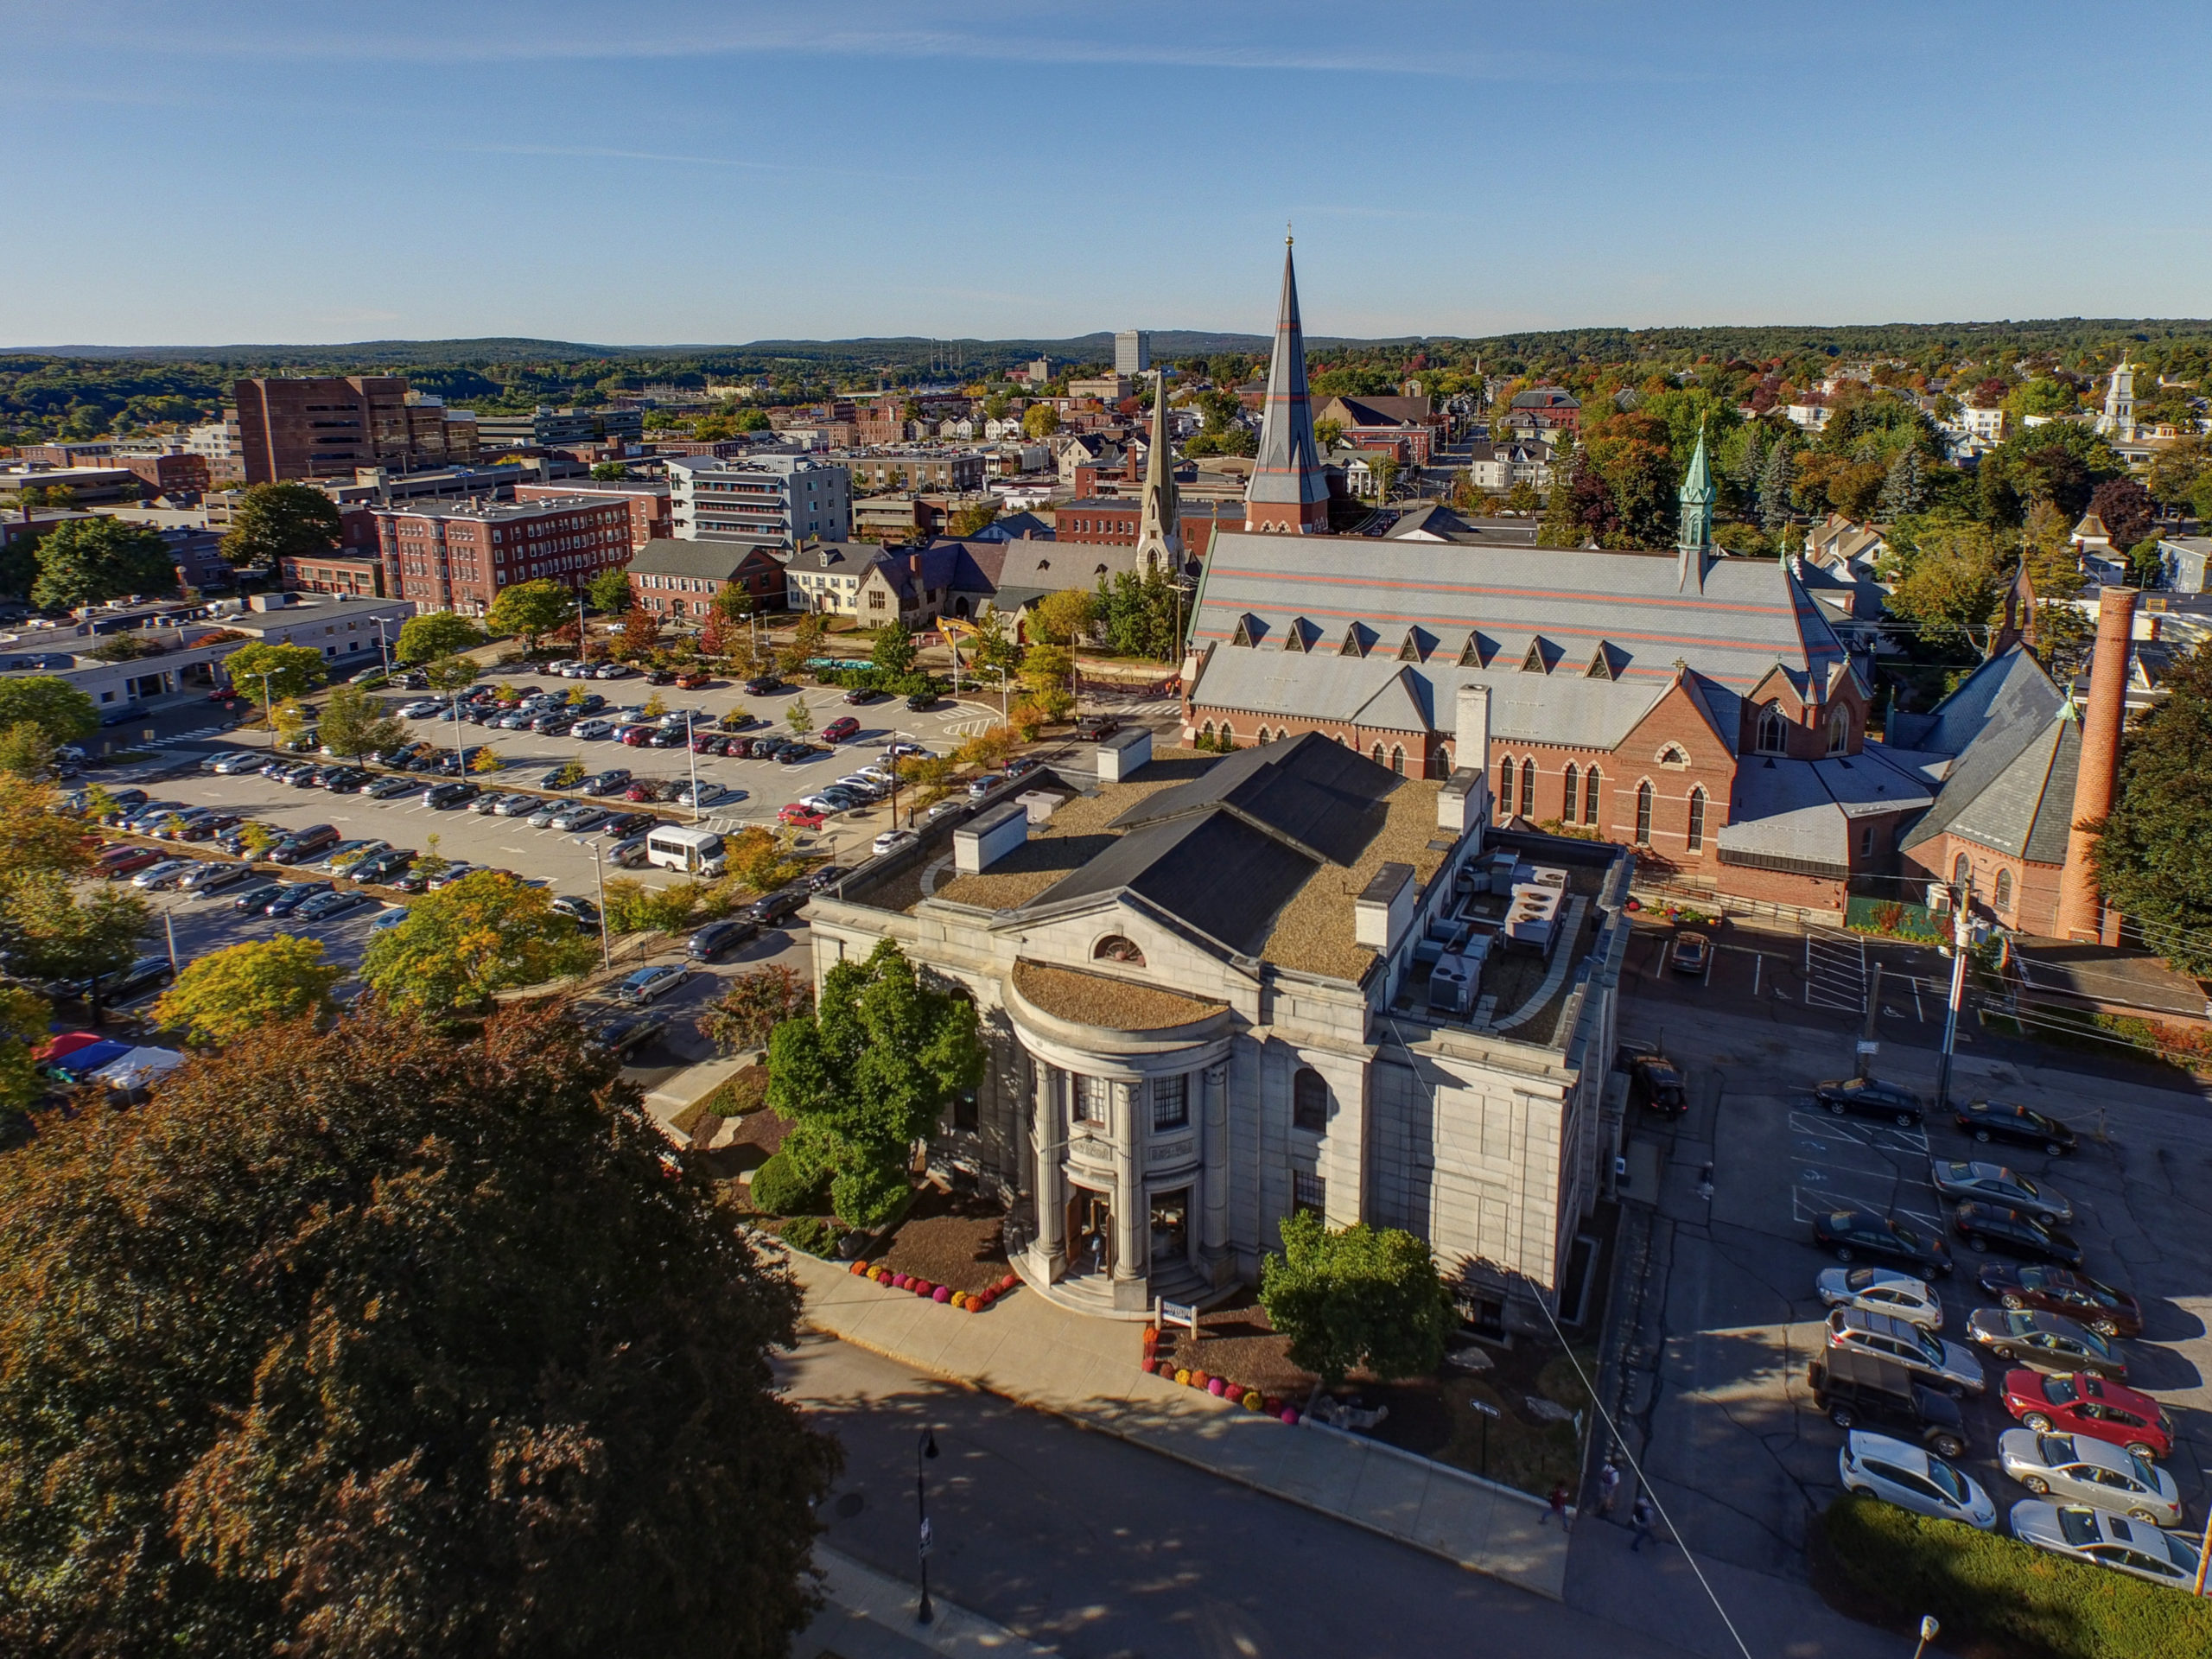
[[[0,24],[4,345],[2212,312],[2201,0]]]

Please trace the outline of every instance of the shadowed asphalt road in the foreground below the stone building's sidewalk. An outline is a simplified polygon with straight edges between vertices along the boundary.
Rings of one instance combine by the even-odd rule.
[[[1068,1659],[1690,1652],[832,1338],[779,1369],[845,1447],[825,1542],[916,1577],[931,1427],[931,1590]]]

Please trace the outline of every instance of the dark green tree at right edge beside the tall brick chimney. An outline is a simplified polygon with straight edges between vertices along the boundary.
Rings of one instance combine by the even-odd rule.
[[[2104,902],[2179,971],[2212,975],[2212,648],[2166,670],[2121,739],[2119,801],[2095,845]]]

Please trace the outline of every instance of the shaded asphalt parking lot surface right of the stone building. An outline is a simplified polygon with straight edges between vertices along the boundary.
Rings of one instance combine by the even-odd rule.
[[[2201,1526],[2212,1498],[2212,1237],[2203,1230],[2212,1106],[2203,1091],[2095,1055],[2022,1060],[2033,1051],[1969,1031],[1953,1099],[1989,1095],[2062,1117],[2081,1135],[2075,1155],[1978,1146],[1933,1110],[1924,1128],[1834,1117],[1814,1106],[1812,1084],[1851,1073],[1860,1011],[1805,1004],[1803,945],[1794,953],[1767,947],[1756,1000],[1745,989],[1747,953],[1736,962],[1717,953],[1714,987],[1668,975],[1663,947],[1657,929],[1637,940],[1646,978],[1630,982],[1621,1026],[1630,1042],[1661,1042],[1686,1068],[1690,1110],[1674,1124],[1632,1117],[1628,1126],[1628,1197],[1655,1203],[1655,1214],[1648,1270],[1641,1287],[1628,1285],[1641,1301],[1621,1405],[1683,1540],[1736,1566],[1805,1577],[1805,1522],[1838,1491],[1843,1444],[1805,1380],[1825,1343],[1814,1276],[1834,1265],[1812,1243],[1814,1214],[1856,1203],[1942,1230],[1955,1261],[1938,1285],[1942,1336],[1969,1343],[1969,1314],[1991,1305],[1975,1274],[2011,1259],[1975,1254],[1951,1232],[1931,1159],[2004,1164],[2073,1199],[2066,1232],[2086,1250],[2086,1272],[2143,1303],[2143,1336],[2117,1349],[2128,1385],[2174,1418],[2166,1469]],[[1874,1075],[1929,1095],[1940,1020],[1940,998],[1922,991],[1913,1006],[1898,975],[1885,975]],[[1995,1464],[1997,1436],[2015,1427],[2000,1398],[2006,1369],[1984,1354],[1989,1391],[1962,1402],[1973,1442],[1962,1464],[2000,1511],[2028,1495]]]

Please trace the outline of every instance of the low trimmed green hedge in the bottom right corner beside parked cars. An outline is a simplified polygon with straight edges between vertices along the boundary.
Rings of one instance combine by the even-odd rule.
[[[1869,1595],[2020,1659],[2212,1652],[2212,1606],[2163,1584],[1874,1498],[1838,1498],[1820,1528]]]

